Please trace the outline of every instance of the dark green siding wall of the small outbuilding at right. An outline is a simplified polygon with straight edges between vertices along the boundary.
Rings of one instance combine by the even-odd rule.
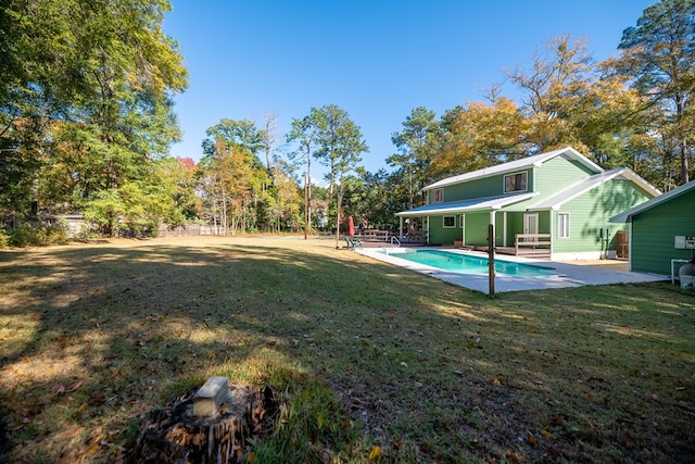
[[[671,275],[672,259],[692,256],[692,250],[673,247],[673,237],[695,236],[694,204],[695,190],[691,190],[633,216],[632,271]]]

